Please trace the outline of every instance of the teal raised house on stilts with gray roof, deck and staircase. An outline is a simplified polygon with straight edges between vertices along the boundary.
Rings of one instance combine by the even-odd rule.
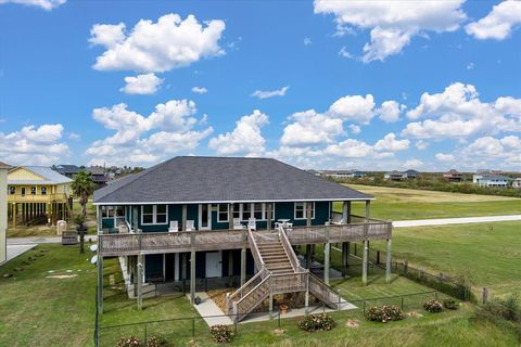
[[[240,288],[227,307],[237,320],[280,293],[305,292],[334,305],[331,243],[342,244],[344,265],[350,242],[364,243],[367,283],[369,240],[386,240],[390,279],[392,224],[370,218],[372,200],[276,159],[175,157],[94,192],[99,281],[103,258],[117,256],[138,306],[154,283],[187,280],[193,301],[196,280],[234,275]],[[352,203],[365,204],[365,216],[353,216]],[[317,244],[325,247],[323,281],[294,250],[306,245],[309,267]]]

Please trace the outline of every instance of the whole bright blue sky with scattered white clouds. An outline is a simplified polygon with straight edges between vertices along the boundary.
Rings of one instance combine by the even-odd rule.
[[[520,1],[0,3],[10,164],[521,168]]]

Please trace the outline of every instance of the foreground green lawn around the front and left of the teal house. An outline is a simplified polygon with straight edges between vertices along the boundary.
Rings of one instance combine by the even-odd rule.
[[[36,260],[29,260],[31,259]],[[77,247],[41,245],[0,267],[0,346],[92,346],[94,322],[96,269],[89,264],[90,254],[79,255]],[[53,271],[53,272],[50,272]],[[105,313],[103,326],[150,320],[196,317],[185,296],[168,296],[144,300],[138,311],[134,300],[126,298],[118,283],[116,259],[105,261]],[[65,278],[49,278],[61,275]],[[114,277],[114,282],[111,281]],[[381,274],[371,274],[370,284],[361,286],[360,279],[335,281],[333,285],[353,300],[380,296],[423,292],[428,288],[406,279],[394,278],[385,284]],[[472,306],[458,311],[430,314],[421,308],[427,297],[406,299],[405,310],[418,311],[420,318],[409,317],[391,324],[370,323],[360,310],[334,313],[338,326],[331,332],[308,334],[296,327],[295,319],[282,319],[282,336],[276,336],[277,320],[240,324],[233,345],[274,346],[516,346],[517,337],[509,327],[499,327],[473,318]],[[397,304],[396,298],[372,304]],[[371,301],[368,303],[372,305]],[[359,301],[358,301],[358,305]],[[347,320],[360,326],[346,327]],[[192,338],[192,327],[195,338]],[[102,346],[114,346],[123,335],[142,336],[143,325],[102,330]],[[212,345],[207,326],[196,319],[149,324],[148,336],[168,335],[178,345]],[[193,339],[193,340],[192,340]]]

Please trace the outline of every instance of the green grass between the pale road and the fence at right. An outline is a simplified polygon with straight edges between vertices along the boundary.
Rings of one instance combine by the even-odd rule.
[[[371,248],[384,249],[382,243]],[[396,228],[393,257],[425,267],[433,273],[467,278],[491,295],[521,295],[521,222]]]

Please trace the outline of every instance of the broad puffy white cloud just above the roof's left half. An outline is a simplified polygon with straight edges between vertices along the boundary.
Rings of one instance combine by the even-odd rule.
[[[94,120],[115,133],[89,146],[89,164],[147,165],[191,152],[213,132],[212,127],[195,129],[195,103],[188,100],[157,104],[149,116],[129,111],[124,103],[94,108]]]

